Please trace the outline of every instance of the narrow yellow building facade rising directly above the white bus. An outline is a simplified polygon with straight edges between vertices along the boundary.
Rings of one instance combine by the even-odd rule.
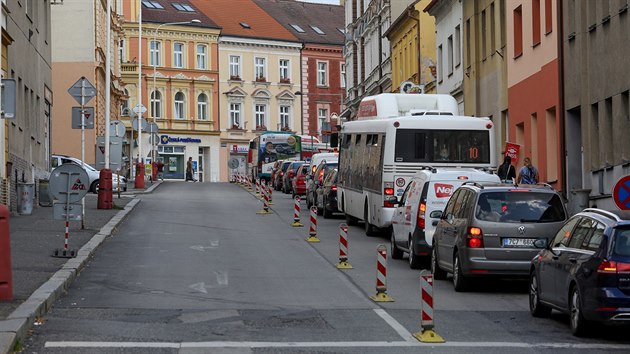
[[[424,12],[430,0],[412,2],[385,32],[392,53],[392,91],[404,82],[421,92],[435,91],[435,18]]]

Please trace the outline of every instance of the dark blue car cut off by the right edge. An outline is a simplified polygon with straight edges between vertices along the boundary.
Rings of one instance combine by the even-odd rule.
[[[532,260],[529,309],[570,316],[576,336],[590,325],[630,320],[630,212],[589,208],[571,217]]]

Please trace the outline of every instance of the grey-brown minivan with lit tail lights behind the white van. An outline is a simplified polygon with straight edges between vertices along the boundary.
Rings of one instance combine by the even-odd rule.
[[[455,291],[473,277],[529,276],[534,242],[550,241],[567,219],[549,185],[466,182],[451,196],[433,235],[436,279],[453,273]]]

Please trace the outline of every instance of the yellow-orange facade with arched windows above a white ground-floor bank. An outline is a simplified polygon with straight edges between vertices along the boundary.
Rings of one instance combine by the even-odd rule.
[[[219,27],[199,8],[182,1],[123,4],[126,37],[120,50],[127,58],[122,68],[129,97],[123,116],[129,127],[128,153],[134,160],[151,162],[153,156],[163,160],[164,178],[171,180],[185,179],[186,162],[192,158],[195,179],[219,181],[223,166],[219,159]],[[157,134],[145,128],[138,137],[131,129],[138,102],[146,109],[143,117],[148,123],[157,124]]]

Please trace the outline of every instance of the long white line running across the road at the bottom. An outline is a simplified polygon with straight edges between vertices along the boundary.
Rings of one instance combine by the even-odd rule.
[[[630,344],[606,343],[524,343],[524,342],[446,342],[408,341],[374,342],[46,342],[46,348],[377,348],[377,347],[448,347],[448,348],[551,348],[551,349],[624,349]]]

